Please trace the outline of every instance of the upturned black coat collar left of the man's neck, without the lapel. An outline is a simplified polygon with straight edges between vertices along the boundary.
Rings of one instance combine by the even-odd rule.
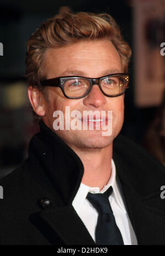
[[[38,165],[32,175],[39,182],[44,182],[44,186],[52,193],[56,188],[64,205],[71,205],[83,178],[83,163],[43,122],[40,122],[40,129],[40,133],[34,135],[29,145],[29,160],[35,161],[35,166]]]

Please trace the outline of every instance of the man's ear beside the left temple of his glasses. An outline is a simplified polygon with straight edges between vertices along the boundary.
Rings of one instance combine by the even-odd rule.
[[[29,101],[30,104],[34,110],[34,112],[38,116],[45,116],[45,104],[44,104],[44,97],[43,94],[38,88],[32,88],[30,85],[28,88],[28,96],[29,96]]]

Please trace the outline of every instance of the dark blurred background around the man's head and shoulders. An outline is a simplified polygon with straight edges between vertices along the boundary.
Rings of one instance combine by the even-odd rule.
[[[24,161],[38,131],[24,77],[26,41],[47,18],[65,11],[107,12],[116,19],[133,50],[122,133],[165,165],[165,0],[1,0],[0,178]]]

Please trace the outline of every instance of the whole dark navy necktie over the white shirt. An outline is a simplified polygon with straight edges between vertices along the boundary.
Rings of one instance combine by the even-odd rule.
[[[118,226],[116,225],[113,211],[108,199],[111,193],[112,187],[108,188],[107,191],[103,194],[88,193],[86,197],[98,212],[95,232],[96,244],[123,245],[123,238]]]

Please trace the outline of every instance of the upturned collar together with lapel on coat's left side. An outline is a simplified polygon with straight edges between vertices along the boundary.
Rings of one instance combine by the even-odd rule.
[[[83,178],[83,163],[42,122],[40,129],[40,133],[30,141],[26,168],[42,187],[44,197],[51,200],[52,206],[31,214],[30,221],[51,244],[94,245],[94,240],[72,206]]]

